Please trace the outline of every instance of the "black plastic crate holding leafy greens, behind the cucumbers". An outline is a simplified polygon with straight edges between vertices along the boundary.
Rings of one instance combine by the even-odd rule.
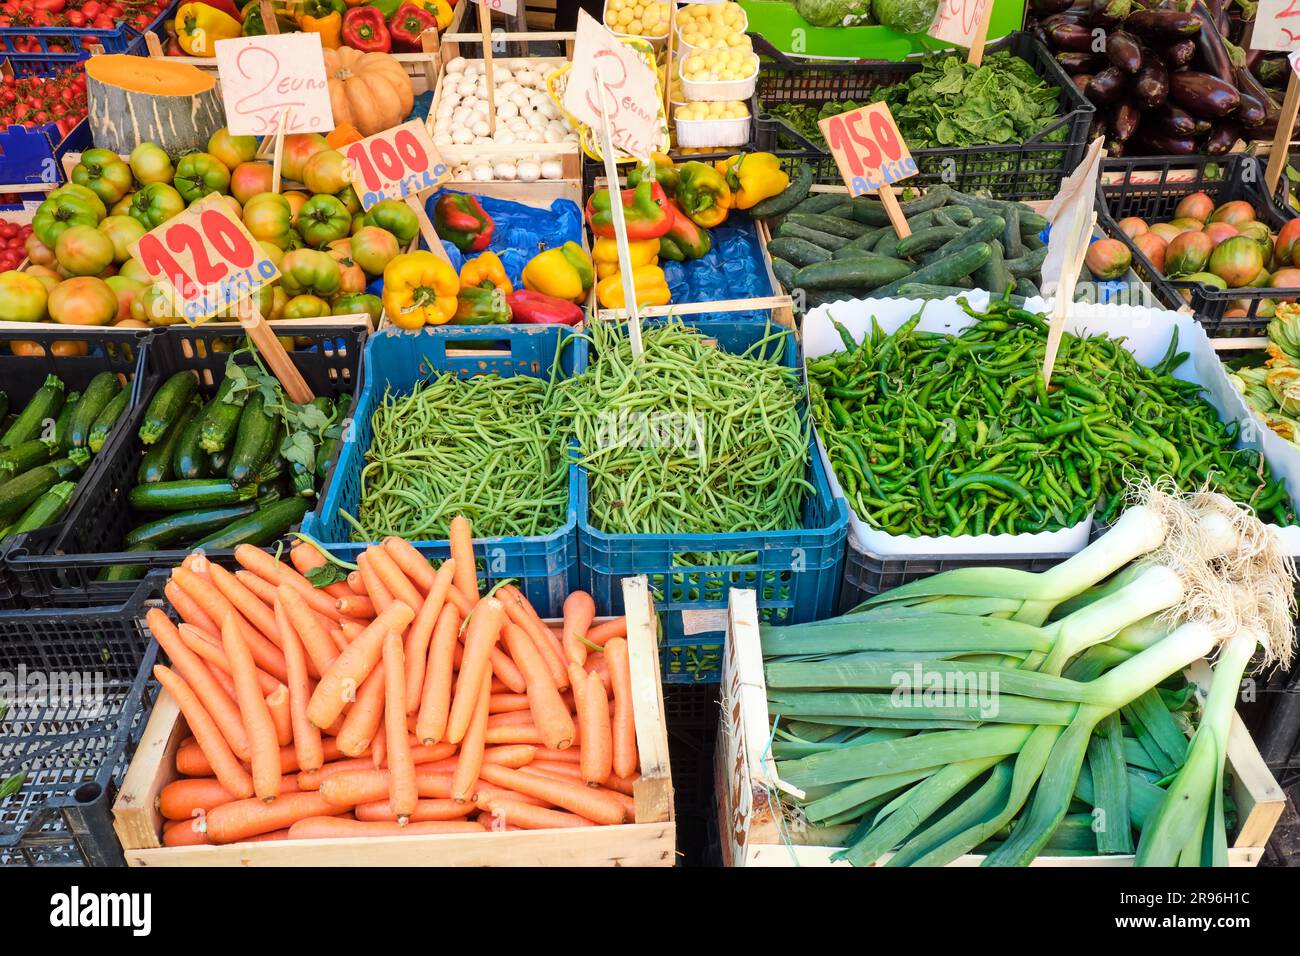
[[[760,36],[754,49],[763,56],[758,74],[758,103],[764,118],[777,124],[775,146],[812,166],[812,181],[841,185],[844,177],[831,151],[816,146],[767,111],[780,103],[820,105],[832,100],[867,103],[881,87],[902,83],[920,69],[916,57],[904,61],[827,62],[794,60]],[[1061,179],[1074,172],[1088,144],[1093,107],[1079,92],[1052,53],[1027,33],[989,44],[1028,62],[1035,73],[1061,90],[1061,117],[1024,143],[913,150],[919,172],[902,186],[932,186],[984,191],[1000,199],[1050,199]],[[1049,142],[1054,137],[1054,142]]]

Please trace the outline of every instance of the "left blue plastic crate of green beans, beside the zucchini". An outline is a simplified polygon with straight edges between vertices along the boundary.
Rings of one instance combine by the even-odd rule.
[[[442,372],[455,372],[465,378],[493,372],[507,377],[546,377],[551,373],[560,342],[566,339],[572,341],[560,354],[560,372],[568,376],[580,367],[586,354],[586,343],[573,337],[568,328],[458,325],[419,332],[390,329],[373,336],[365,346],[365,384],[352,408],[352,428],[344,432],[347,438],[339,449],[320,507],[307,515],[303,531],[348,561],[367,544],[373,544],[354,542],[352,528],[339,510],[356,514],[361,497],[361,468],[373,438],[370,419],[384,399],[385,389],[410,390],[417,381]],[[481,354],[447,355],[448,347],[459,351],[485,345],[489,347]],[[564,524],[550,535],[474,538],[481,587],[490,588],[498,581],[514,579],[538,614],[558,617],[564,598],[577,587],[577,520],[578,514],[586,511],[584,490],[578,468],[571,467],[568,514]],[[412,544],[421,554],[437,561],[451,553],[447,541]]]

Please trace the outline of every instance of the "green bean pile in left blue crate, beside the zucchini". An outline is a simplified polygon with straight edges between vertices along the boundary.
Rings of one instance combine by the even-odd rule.
[[[564,523],[568,460],[549,412],[551,384],[525,375],[443,373],[391,389],[372,418],[356,541],[446,538],[464,515],[474,537],[547,535]]]

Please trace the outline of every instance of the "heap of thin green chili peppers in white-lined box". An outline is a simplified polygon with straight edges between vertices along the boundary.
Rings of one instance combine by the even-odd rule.
[[[1265,520],[1295,524],[1286,486],[1201,388],[1171,375],[1178,333],[1144,368],[1106,336],[1063,336],[1043,384],[1048,323],[993,302],[958,336],[879,326],[809,363],[812,415],[858,515],[892,535],[1057,531],[1109,522],[1124,483],[1208,483]]]

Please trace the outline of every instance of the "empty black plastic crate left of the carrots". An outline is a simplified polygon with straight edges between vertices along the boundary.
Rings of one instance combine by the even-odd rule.
[[[30,691],[0,715],[0,779],[25,774],[0,800],[0,866],[124,865],[112,805],[156,693],[159,583],[118,606],[0,613],[0,672]]]

